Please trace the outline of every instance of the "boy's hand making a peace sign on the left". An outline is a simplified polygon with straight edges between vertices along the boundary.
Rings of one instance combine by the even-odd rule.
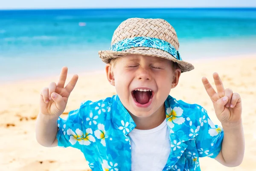
[[[40,113],[49,116],[60,116],[67,105],[67,99],[74,89],[78,75],[74,75],[70,82],[64,87],[67,79],[67,67],[63,67],[58,84],[51,82],[40,93]]]

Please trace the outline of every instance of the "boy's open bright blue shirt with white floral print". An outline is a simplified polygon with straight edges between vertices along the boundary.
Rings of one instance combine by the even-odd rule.
[[[198,104],[168,96],[165,107],[171,153],[163,171],[200,171],[198,158],[215,158],[221,150],[222,128]],[[58,146],[81,150],[93,171],[131,171],[128,133],[135,127],[117,95],[84,101],[66,119],[58,119]]]

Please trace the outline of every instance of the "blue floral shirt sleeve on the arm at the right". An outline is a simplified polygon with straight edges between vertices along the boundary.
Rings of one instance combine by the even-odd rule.
[[[195,138],[199,157],[217,157],[221,151],[221,144],[224,137],[223,129],[213,124],[204,108],[201,108],[199,124],[199,134]]]

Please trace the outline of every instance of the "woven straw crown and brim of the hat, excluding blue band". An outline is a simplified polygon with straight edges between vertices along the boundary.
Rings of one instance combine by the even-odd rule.
[[[144,19],[144,18],[129,18],[123,21],[115,30],[111,45],[121,41],[125,38],[134,37],[151,37],[167,41],[178,51],[179,42],[175,29],[163,19]],[[117,58],[121,55],[147,55],[160,58],[166,58],[171,61],[177,62],[181,72],[187,72],[194,69],[194,66],[185,61],[179,61],[171,54],[161,49],[150,47],[133,47],[126,51],[99,51],[99,57],[103,62],[109,63],[112,58]],[[182,57],[182,56],[181,56]]]

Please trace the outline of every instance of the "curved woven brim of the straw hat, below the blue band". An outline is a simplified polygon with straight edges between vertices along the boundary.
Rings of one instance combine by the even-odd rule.
[[[99,58],[101,58],[103,62],[108,64],[113,58],[118,58],[122,55],[131,55],[131,54],[155,56],[159,58],[165,58],[170,61],[174,61],[179,65],[181,72],[188,72],[195,68],[189,62],[177,60],[166,51],[163,51],[161,49],[151,48],[151,47],[133,47],[126,51],[102,50],[102,51],[99,51]]]

